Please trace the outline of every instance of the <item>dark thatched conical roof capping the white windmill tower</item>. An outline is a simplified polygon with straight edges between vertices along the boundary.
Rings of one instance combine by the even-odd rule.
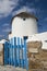
[[[19,14],[15,14],[13,17],[12,17],[12,20],[11,20],[11,24],[12,24],[12,21],[14,20],[14,17],[16,17],[16,16],[19,16],[19,17],[33,17],[33,19],[35,19],[36,21],[38,21],[38,19],[34,15],[34,14],[30,14],[30,13],[27,13],[27,12],[21,12],[21,13],[19,13]]]

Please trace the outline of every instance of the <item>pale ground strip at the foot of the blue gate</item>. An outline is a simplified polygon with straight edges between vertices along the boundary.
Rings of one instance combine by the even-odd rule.
[[[0,71],[26,71],[26,70],[22,68],[15,68],[12,66],[0,66]]]

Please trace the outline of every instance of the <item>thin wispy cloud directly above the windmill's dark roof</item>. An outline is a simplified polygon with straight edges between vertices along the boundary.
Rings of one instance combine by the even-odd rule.
[[[36,13],[36,9],[35,8],[28,8],[28,7],[22,7],[20,10],[14,11],[12,15],[15,15],[20,12],[30,12],[30,13]]]

